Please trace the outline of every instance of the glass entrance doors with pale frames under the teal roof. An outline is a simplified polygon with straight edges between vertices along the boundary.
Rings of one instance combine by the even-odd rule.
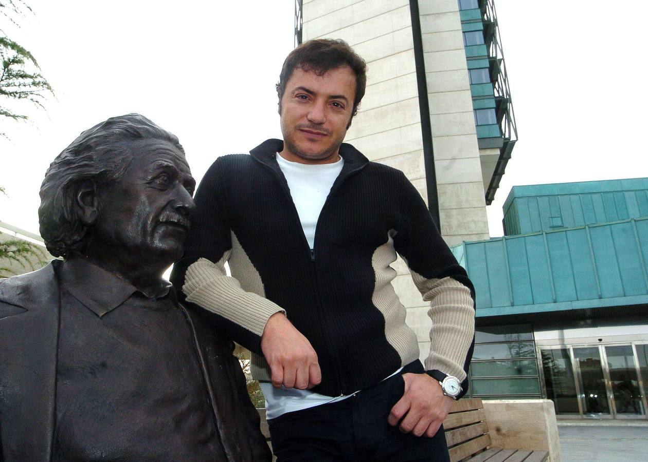
[[[538,358],[559,418],[646,418],[648,344],[540,347]]]

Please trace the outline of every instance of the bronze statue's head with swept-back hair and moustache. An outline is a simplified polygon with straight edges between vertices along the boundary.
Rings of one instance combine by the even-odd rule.
[[[138,114],[109,118],[49,166],[41,236],[54,256],[161,272],[182,254],[195,184],[177,137]]]

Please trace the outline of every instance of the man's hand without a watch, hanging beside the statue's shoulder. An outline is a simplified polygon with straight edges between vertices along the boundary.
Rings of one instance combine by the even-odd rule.
[[[261,336],[261,351],[270,365],[273,387],[306,390],[321,382],[317,353],[283,313],[268,319]]]

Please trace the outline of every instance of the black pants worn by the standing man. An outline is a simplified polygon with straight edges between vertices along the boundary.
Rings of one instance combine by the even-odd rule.
[[[403,373],[411,371],[411,366]],[[443,426],[428,438],[402,434],[387,422],[403,391],[402,375],[397,374],[343,401],[271,419],[268,424],[277,462],[449,462]]]

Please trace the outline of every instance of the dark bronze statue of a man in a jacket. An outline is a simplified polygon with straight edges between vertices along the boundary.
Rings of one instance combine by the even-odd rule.
[[[40,230],[64,260],[0,281],[0,461],[270,460],[233,344],[161,278],[194,186],[135,114],[52,162]]]

